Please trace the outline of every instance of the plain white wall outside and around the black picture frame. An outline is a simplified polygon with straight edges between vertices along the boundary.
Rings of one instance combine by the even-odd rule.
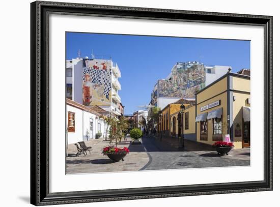
[[[53,0],[50,0],[53,1]],[[62,1],[62,0],[61,0]],[[13,82],[20,82],[20,92],[17,93],[17,100],[20,102],[20,107],[23,109],[20,111],[21,117],[24,117],[24,121],[20,125],[16,125],[15,117],[18,117],[18,111],[14,110],[18,108],[18,101],[3,101],[1,103],[3,124],[0,131],[0,137],[11,137],[11,133],[15,131],[20,132],[20,136],[14,136],[12,144],[16,147],[17,152],[11,153],[8,147],[3,147],[1,164],[2,166],[9,166],[8,170],[1,170],[0,182],[1,182],[1,194],[2,199],[0,201],[2,206],[32,206],[30,203],[30,2],[28,0],[21,1],[4,1],[2,2],[2,12],[0,13],[2,21],[2,31],[0,44],[2,49],[0,50],[1,57],[9,60],[10,55],[16,55],[18,63],[24,63],[24,67],[14,67]],[[65,1],[66,2],[66,1]],[[277,1],[267,0],[263,1],[159,1],[159,0],[67,0],[67,2],[73,3],[90,3],[90,4],[107,4],[107,5],[119,5],[119,6],[135,6],[135,7],[150,7],[150,8],[164,8],[164,9],[179,9],[179,10],[200,10],[200,11],[212,11],[212,12],[231,12],[231,13],[246,13],[246,14],[261,14],[261,15],[273,15],[273,52],[274,57],[278,57],[280,54],[280,13],[278,11]],[[12,12],[11,12],[12,11]],[[12,43],[12,44],[11,44]],[[20,48],[20,50],[19,50]],[[18,53],[19,51],[20,54]],[[3,61],[2,67],[11,68],[11,61]],[[279,94],[277,90],[280,88],[280,81],[276,81],[280,77],[279,58],[273,60],[274,76],[274,129],[279,126],[280,121],[277,117],[280,116],[280,109],[276,107],[280,105]],[[59,70],[59,69],[58,69]],[[64,69],[62,69],[64,70]],[[11,91],[18,92],[18,84],[11,85],[10,70],[1,70],[0,72],[0,91],[2,97],[8,99],[11,97]],[[24,81],[22,81],[24,80]],[[9,85],[9,90],[7,86]],[[273,145],[278,146],[280,144],[277,139],[277,130],[274,130]],[[60,137],[58,137],[60,138]],[[276,147],[277,148],[277,147]],[[275,149],[276,149],[275,148]],[[280,194],[280,178],[279,174],[279,161],[280,151],[273,151],[274,163],[273,163],[273,186],[274,190],[269,192],[250,192],[250,193],[233,193],[233,194],[217,194],[217,195],[205,195],[205,196],[187,196],[187,197],[173,197],[173,198],[158,198],[158,199],[141,199],[141,200],[125,200],[125,201],[110,201],[110,202],[96,202],[94,206],[100,207],[106,205],[119,206],[175,206],[175,205],[195,205],[195,206],[217,206],[217,203],[226,203],[228,207],[236,206],[267,206],[268,203],[277,203]],[[34,156],[34,155],[32,155]],[[124,181],[127,182],[127,181]],[[58,207],[66,206],[93,206],[92,203],[83,204],[67,204],[57,205]],[[273,206],[273,204],[272,204]],[[274,204],[276,206],[276,204]]]

